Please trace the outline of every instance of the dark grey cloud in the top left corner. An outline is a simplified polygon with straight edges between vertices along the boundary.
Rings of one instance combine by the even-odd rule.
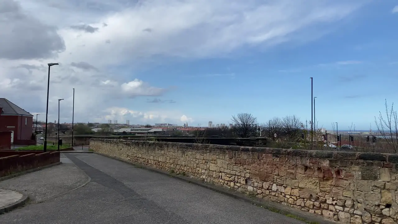
[[[26,14],[15,0],[0,0],[0,30],[3,59],[49,58],[65,50],[57,28]]]

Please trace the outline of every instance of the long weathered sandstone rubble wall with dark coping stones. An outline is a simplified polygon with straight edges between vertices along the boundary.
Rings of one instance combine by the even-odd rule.
[[[103,139],[90,149],[341,223],[398,218],[398,154]]]

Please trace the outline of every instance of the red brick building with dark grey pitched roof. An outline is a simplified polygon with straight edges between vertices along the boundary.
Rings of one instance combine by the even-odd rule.
[[[0,98],[0,131],[11,131],[11,144],[34,145],[33,115],[6,98]]]

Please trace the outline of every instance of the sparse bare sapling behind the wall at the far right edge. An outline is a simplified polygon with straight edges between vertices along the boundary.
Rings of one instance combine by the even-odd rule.
[[[376,118],[375,123],[377,132],[380,133],[382,138],[386,141],[387,150],[391,150],[394,153],[398,152],[398,118],[397,112],[394,111],[394,103],[391,104],[391,108],[388,107],[387,100],[384,102],[385,106],[385,117],[379,111],[379,116]]]

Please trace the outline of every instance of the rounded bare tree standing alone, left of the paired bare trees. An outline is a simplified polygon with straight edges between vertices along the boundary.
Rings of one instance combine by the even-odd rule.
[[[233,132],[241,138],[256,136],[257,118],[252,114],[240,113],[232,116],[232,122],[234,123]]]

